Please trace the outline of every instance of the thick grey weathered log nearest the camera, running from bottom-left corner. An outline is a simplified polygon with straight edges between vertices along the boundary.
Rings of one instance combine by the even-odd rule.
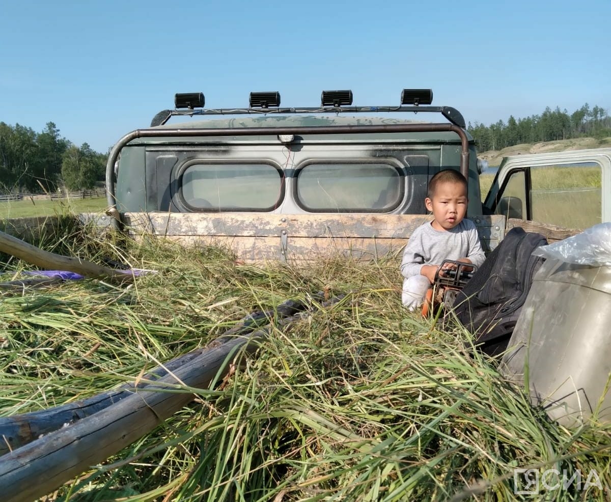
[[[323,306],[342,299],[336,297]],[[279,321],[286,325],[303,314]],[[76,424],[52,432],[0,457],[0,493],[3,502],[31,502],[97,465],[155,429],[194,398],[177,385],[208,388],[227,373],[229,362],[253,352],[272,328],[234,336],[210,344],[190,362],[154,384]]]

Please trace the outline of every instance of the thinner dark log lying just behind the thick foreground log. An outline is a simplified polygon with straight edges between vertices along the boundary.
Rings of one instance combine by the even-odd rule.
[[[313,299],[322,300],[323,293],[319,292],[313,295]],[[216,341],[224,341],[230,336],[244,335],[258,327],[268,324],[271,318],[285,319],[295,315],[301,310],[309,307],[309,304],[298,300],[286,300],[278,305],[273,310],[255,311],[236,324],[236,326],[222,333]],[[147,380],[157,380],[166,376],[169,372],[174,373],[177,368],[191,362],[196,357],[202,355],[205,347],[200,347],[188,354],[183,354],[176,357],[163,366],[150,371],[143,377],[139,378],[138,382],[128,382],[114,390],[100,393],[91,398],[74,401],[62,406],[57,406],[51,409],[38,410],[22,415],[13,415],[12,417],[0,417],[0,456],[9,453],[12,449],[26,445],[43,435],[57,431],[64,426],[74,424],[78,420],[90,417],[93,413],[112,406],[132,395],[137,389],[142,389],[148,384]]]

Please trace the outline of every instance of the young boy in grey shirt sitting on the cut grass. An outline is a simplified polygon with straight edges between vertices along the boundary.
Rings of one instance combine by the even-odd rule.
[[[454,169],[442,170],[431,178],[425,206],[433,221],[414,230],[403,252],[403,305],[414,311],[444,260],[464,261],[480,266],[485,260],[475,224],[465,220],[467,180]],[[445,269],[453,266],[444,266]],[[443,274],[443,271],[441,271]]]

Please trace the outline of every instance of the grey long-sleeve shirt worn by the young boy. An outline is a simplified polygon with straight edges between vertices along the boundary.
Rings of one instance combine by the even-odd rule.
[[[403,252],[403,277],[419,275],[423,265],[441,265],[444,260],[469,258],[480,266],[486,256],[474,222],[464,219],[451,230],[435,230],[430,222],[420,225],[409,238]]]

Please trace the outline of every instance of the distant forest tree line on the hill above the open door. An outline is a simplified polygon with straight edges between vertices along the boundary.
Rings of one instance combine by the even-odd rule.
[[[469,122],[467,131],[475,139],[479,151],[502,150],[522,143],[574,139],[577,137],[597,137],[602,139],[611,136],[611,117],[600,106],[590,108],[588,103],[579,110],[569,114],[566,109],[560,111],[549,106],[540,115],[526,118],[514,118],[511,115],[507,123],[499,120],[485,126]]]

